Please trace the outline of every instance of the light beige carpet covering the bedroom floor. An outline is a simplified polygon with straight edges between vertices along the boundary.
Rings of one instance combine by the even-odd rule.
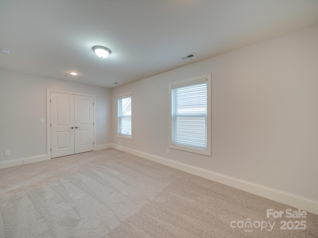
[[[115,149],[0,170],[1,238],[318,238],[317,215],[267,208],[292,207]],[[246,219],[275,224],[230,226]],[[283,220],[307,228],[280,230]]]

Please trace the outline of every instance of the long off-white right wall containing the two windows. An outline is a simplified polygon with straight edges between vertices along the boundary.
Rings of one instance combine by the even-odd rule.
[[[213,44],[213,42],[211,42]],[[212,156],[168,148],[168,84],[212,73]],[[134,140],[116,138],[133,92]],[[318,26],[112,90],[116,145],[318,201]]]

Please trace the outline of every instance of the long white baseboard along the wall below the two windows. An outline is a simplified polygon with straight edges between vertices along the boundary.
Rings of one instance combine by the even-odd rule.
[[[140,156],[148,160],[158,162],[159,164],[163,164],[163,165],[172,167],[174,169],[178,169],[178,170],[181,170],[196,176],[200,176],[205,179],[210,179],[216,182],[220,182],[225,185],[238,188],[242,191],[249,192],[249,193],[252,193],[252,194],[255,194],[255,195],[276,201],[276,202],[286,204],[288,206],[301,208],[307,212],[311,212],[318,215],[318,201],[316,200],[312,200],[306,197],[291,194],[291,193],[277,190],[274,188],[266,187],[256,183],[244,181],[241,179],[236,179],[230,176],[222,175],[222,174],[215,173],[209,170],[183,164],[183,163],[169,160],[163,157],[148,154],[142,151],[130,149],[124,146],[111,144],[111,147],[133,154],[133,155]]]

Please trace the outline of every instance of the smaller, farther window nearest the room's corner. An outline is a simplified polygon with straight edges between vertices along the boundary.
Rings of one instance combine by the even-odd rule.
[[[132,93],[117,96],[117,109],[117,136],[132,140]]]

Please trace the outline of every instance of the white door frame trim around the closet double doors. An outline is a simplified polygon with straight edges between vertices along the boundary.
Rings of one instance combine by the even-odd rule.
[[[73,95],[90,96],[94,100],[94,150],[96,150],[96,95],[87,93],[70,92],[59,89],[46,89],[46,121],[47,121],[47,155],[51,159],[51,92],[54,93],[67,93]]]

